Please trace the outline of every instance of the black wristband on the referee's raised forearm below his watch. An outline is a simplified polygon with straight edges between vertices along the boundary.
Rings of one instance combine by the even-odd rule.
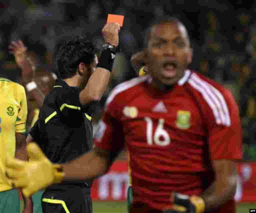
[[[112,67],[115,59],[115,50],[106,49],[101,52],[100,60],[97,67],[107,69],[112,72]]]

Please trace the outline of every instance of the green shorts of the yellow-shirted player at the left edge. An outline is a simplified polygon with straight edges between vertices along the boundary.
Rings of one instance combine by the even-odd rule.
[[[20,198],[17,189],[0,191],[0,212],[20,212]]]

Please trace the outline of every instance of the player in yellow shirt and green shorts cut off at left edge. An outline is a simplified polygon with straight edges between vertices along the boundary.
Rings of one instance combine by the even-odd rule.
[[[0,212],[20,212],[18,190],[5,177],[4,160],[16,156],[26,160],[27,99],[23,86],[0,78]]]

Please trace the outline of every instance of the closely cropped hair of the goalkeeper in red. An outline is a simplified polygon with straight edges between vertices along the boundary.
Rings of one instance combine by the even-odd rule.
[[[173,16],[160,16],[160,17],[157,17],[146,28],[145,36],[144,36],[144,48],[147,48],[148,40],[150,39],[150,33],[151,33],[151,30],[152,30],[152,27],[154,25],[167,24],[167,23],[170,23],[170,24],[178,23],[178,24],[183,25],[185,27],[185,25],[179,19],[177,19],[176,17],[173,17]],[[188,32],[187,32],[187,38],[189,40]]]

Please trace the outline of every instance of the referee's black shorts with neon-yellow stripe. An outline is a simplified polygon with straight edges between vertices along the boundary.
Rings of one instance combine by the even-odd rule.
[[[61,185],[47,188],[42,195],[43,213],[92,213],[90,188]]]

